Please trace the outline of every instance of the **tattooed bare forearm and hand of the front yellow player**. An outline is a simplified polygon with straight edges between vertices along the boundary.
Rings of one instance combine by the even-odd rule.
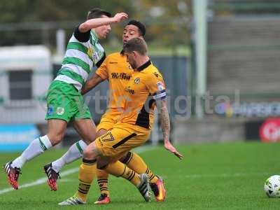
[[[156,101],[156,106],[158,112],[160,113],[160,124],[162,127],[163,141],[165,141],[165,148],[167,149],[167,151],[174,153],[174,155],[182,159],[183,155],[181,155],[169,141],[170,120],[165,99]]]

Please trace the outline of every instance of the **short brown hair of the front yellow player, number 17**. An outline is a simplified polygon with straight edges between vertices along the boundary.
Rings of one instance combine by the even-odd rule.
[[[144,41],[143,38],[132,38],[130,41],[127,41],[125,45],[123,46],[124,52],[133,52],[137,51],[140,55],[146,55],[147,54],[147,44],[146,41]]]

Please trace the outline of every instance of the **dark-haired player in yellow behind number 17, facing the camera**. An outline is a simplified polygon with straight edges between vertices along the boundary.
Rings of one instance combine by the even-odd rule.
[[[127,43],[131,38],[144,37],[146,27],[137,20],[130,20],[123,29],[123,43]],[[82,89],[82,94],[85,94],[93,87],[98,85],[103,80],[109,80],[110,99],[107,111],[102,116],[99,125],[97,126],[97,137],[101,137],[112,129],[120,118],[123,116],[125,107],[125,87],[132,76],[132,69],[127,63],[127,59],[123,52],[115,52],[108,55],[101,66],[97,69],[94,76],[85,83]],[[148,168],[144,160],[137,153],[128,152],[121,159],[125,165],[130,167],[138,174],[148,174],[151,188],[158,202],[165,200],[165,187],[160,176],[155,176],[151,169]],[[110,202],[108,189],[109,174],[104,170],[97,169],[97,183],[100,189],[100,197],[95,204],[108,204]],[[162,191],[162,192],[160,192]],[[164,196],[159,198],[159,194]]]

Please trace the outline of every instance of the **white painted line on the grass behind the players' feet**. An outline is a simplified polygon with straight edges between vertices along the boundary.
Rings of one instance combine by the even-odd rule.
[[[153,149],[154,149],[153,146],[141,146],[139,148],[134,149],[134,151],[136,153],[144,153],[146,151],[151,151]],[[76,172],[78,172],[78,168],[73,168],[73,169],[66,170],[65,172],[61,172],[60,175],[65,177],[65,176],[74,174]],[[25,183],[22,186],[20,186],[19,188],[21,189],[21,188],[29,188],[32,186],[38,186],[38,185],[41,185],[42,183],[45,183],[46,181],[47,181],[47,178],[37,179],[36,181],[32,181],[30,183]],[[0,190],[0,195],[4,194],[4,193],[8,193],[13,190],[14,190],[13,188],[5,188],[3,190]]]

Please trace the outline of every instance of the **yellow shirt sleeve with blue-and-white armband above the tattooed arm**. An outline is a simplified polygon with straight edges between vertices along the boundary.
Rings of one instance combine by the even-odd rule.
[[[162,100],[167,97],[165,81],[159,73],[155,73],[155,75],[148,80],[147,87],[153,99]]]

